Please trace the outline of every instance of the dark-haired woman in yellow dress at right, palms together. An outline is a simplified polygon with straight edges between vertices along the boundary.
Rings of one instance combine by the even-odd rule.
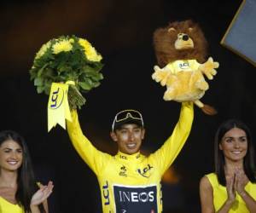
[[[215,172],[201,178],[202,213],[255,213],[256,176],[253,141],[247,125],[230,119],[215,135]]]

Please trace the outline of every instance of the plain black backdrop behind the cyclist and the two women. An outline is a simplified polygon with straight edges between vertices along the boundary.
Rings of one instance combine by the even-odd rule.
[[[143,113],[143,152],[154,152],[172,133],[180,104],[163,101],[165,88],[151,75],[156,64],[152,35],[169,21],[198,22],[209,43],[209,55],[220,64],[201,99],[218,110],[207,116],[195,107],[189,140],[172,165],[177,182],[163,182],[164,212],[200,212],[198,184],[213,170],[213,135],[226,118],[240,118],[255,130],[255,67],[220,40],[241,0],[26,0],[3,1],[0,9],[0,130],[26,138],[38,179],[55,183],[50,212],[101,212],[96,176],[79,158],[67,132],[47,132],[46,95],[38,95],[29,69],[35,53],[53,37],[74,34],[92,43],[103,56],[104,79],[84,95],[79,111],[84,134],[103,152],[116,153],[109,137],[113,116],[124,108]],[[255,144],[255,143],[254,143]]]

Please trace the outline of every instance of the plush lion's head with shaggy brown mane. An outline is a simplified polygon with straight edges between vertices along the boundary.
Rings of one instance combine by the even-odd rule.
[[[160,66],[174,60],[197,60],[207,56],[207,40],[192,20],[175,21],[154,32],[154,50]]]

